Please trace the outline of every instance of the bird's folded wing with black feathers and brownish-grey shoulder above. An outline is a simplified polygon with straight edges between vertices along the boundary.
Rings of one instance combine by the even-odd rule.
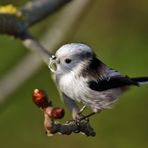
[[[96,61],[98,59],[95,58],[94,60]],[[122,75],[116,70],[108,68],[104,63],[95,63],[98,63],[98,65],[95,65],[95,68],[93,68],[91,72],[87,74],[87,83],[90,89],[105,91],[108,89],[129,85],[138,85],[136,81],[133,81],[128,76]]]

